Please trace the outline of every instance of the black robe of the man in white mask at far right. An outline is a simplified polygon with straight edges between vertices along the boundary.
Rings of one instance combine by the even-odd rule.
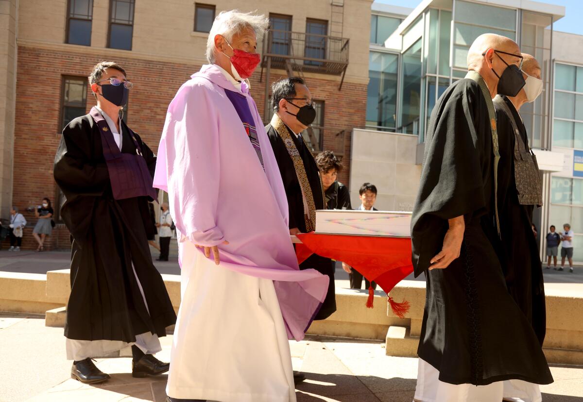
[[[514,115],[514,121],[526,149],[529,149],[526,128],[516,108],[503,97]],[[533,205],[518,202],[514,179],[514,128],[507,114],[498,105],[498,216],[500,217],[500,262],[506,278],[508,292],[517,302],[526,319],[532,324],[542,345],[546,332],[545,285],[535,235],[532,232]]]

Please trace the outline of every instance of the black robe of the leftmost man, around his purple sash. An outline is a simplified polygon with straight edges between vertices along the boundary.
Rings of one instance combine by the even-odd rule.
[[[136,139],[153,175],[156,157]],[[136,154],[123,122],[121,151]],[[146,239],[148,198],[113,198],[101,134],[89,114],[64,128],[54,176],[66,197],[61,216],[72,237],[65,336],[127,343],[146,332],[166,336],[176,315]]]

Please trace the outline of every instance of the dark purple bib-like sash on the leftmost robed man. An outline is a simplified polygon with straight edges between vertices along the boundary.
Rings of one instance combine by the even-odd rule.
[[[99,110],[93,107],[89,114],[97,123],[101,133],[103,156],[106,158],[113,198],[121,200],[146,196],[154,200],[157,199],[156,191],[152,186],[152,176],[147,168],[146,160],[142,156],[142,151],[134,132],[130,130],[129,136],[134,140],[136,154],[122,153]]]

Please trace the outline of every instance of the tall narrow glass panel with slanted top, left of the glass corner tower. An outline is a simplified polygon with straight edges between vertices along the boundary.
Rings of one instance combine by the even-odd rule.
[[[421,108],[421,40],[417,40],[402,55],[401,68],[401,127],[398,131],[419,134]]]

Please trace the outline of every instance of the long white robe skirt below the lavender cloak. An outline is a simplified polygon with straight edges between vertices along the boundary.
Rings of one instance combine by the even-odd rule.
[[[181,304],[166,393],[220,402],[295,402],[273,281],[226,269],[180,244]]]

